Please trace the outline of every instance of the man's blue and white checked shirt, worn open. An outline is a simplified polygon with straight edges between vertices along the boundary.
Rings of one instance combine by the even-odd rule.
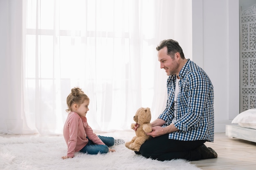
[[[177,120],[173,123],[180,131],[169,134],[176,140],[207,140],[214,138],[213,85],[207,74],[190,59],[179,74],[180,91],[177,96]],[[176,75],[168,77],[168,98],[166,108],[158,118],[164,120],[163,125],[171,124],[174,117],[174,94]]]

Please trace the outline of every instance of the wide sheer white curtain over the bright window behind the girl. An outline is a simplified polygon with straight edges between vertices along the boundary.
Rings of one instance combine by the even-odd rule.
[[[15,112],[22,127],[19,131],[1,127],[1,132],[62,134],[66,97],[77,86],[90,98],[87,117],[93,129],[130,129],[139,107],[150,107],[152,119],[157,118],[166,104],[167,76],[159,68],[155,47],[162,39],[175,39],[182,3],[23,1],[19,10],[23,11],[24,41],[15,56],[22,63],[16,71],[21,79],[18,84],[11,82],[20,90],[21,106]],[[7,6],[7,13],[14,13],[15,8]]]

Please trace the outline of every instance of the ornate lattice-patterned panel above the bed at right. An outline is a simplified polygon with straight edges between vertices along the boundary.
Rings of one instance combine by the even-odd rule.
[[[245,111],[256,108],[256,4],[242,11],[240,22],[242,28],[240,107]]]

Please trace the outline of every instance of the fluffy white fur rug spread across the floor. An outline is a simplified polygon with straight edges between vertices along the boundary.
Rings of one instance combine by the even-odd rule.
[[[125,141],[128,142],[129,138]],[[88,155],[76,153],[74,158],[61,159],[67,146],[63,136],[0,136],[1,170],[199,170],[181,159],[157,161],[136,155],[124,145],[113,146],[114,153]]]

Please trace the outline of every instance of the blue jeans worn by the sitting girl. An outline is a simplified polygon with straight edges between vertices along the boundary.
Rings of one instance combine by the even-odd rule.
[[[98,153],[108,153],[108,147],[115,144],[115,139],[113,137],[100,136],[98,137],[102,140],[105,145],[94,144],[88,137],[88,144],[85,145],[79,152],[88,153],[90,155],[96,155]]]

